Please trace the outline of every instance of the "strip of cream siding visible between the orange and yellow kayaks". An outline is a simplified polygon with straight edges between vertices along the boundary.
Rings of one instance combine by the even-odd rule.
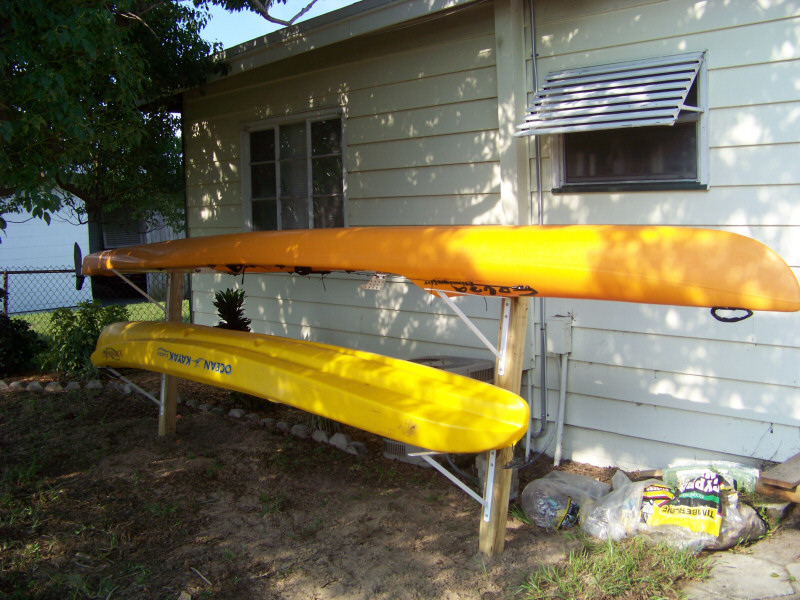
[[[368,275],[196,275],[195,321],[217,323],[210,290],[245,290],[246,316],[257,333],[270,333],[379,352],[396,358],[456,354],[488,358],[447,306],[400,278],[381,291],[360,288]],[[489,339],[497,336],[498,299],[459,298],[459,308]]]

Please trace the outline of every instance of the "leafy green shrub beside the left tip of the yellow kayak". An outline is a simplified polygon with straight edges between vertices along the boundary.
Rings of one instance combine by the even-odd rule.
[[[127,320],[124,306],[103,306],[97,301],[80,302],[75,310],[56,309],[51,320],[53,344],[47,366],[82,379],[95,375],[97,369],[90,356],[100,332],[106,325]]]

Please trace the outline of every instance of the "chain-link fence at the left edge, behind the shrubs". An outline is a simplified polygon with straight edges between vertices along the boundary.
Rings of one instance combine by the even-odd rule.
[[[97,301],[103,305],[120,304],[128,309],[132,321],[161,321],[164,312],[146,300],[119,277],[86,277],[81,282],[74,267],[3,270],[0,287],[3,313],[24,319],[42,335],[50,335],[50,318],[57,308],[76,308],[80,302]],[[163,302],[167,292],[165,273],[127,276],[155,300]],[[188,276],[184,298],[189,297]],[[82,283],[82,285],[81,285]],[[183,321],[190,322],[189,301],[183,301]]]

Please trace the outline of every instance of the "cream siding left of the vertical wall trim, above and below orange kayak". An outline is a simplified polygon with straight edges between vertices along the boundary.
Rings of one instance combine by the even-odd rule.
[[[480,223],[499,204],[497,83],[491,4],[331,50],[311,72],[270,68],[214,83],[187,101],[187,182],[192,236],[240,231],[244,123],[344,107],[351,226]],[[323,57],[324,60],[324,57]],[[310,61],[307,61],[310,62]],[[335,63],[335,64],[334,64]],[[273,76],[274,77],[274,76]],[[196,275],[197,323],[214,325],[213,291],[241,287],[256,332],[400,358],[491,357],[439,299],[390,278]],[[489,338],[497,300],[457,300]]]

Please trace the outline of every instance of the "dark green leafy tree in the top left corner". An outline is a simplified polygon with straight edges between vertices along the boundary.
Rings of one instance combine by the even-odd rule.
[[[74,198],[98,220],[180,219],[173,98],[224,70],[206,19],[170,0],[0,0],[0,229]]]

